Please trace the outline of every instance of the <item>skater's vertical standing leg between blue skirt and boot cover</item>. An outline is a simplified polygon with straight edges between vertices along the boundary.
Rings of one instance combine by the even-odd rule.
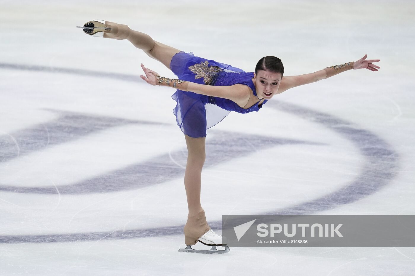
[[[197,215],[203,208],[200,204],[200,184],[202,167],[205,163],[205,141],[206,138],[192,138],[185,135],[188,156],[186,163],[186,172],[184,176],[184,186],[186,189],[187,204],[189,214]]]

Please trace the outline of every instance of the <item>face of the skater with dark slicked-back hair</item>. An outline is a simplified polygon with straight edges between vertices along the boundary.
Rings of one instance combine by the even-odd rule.
[[[254,73],[256,80],[256,96],[259,99],[271,99],[273,95],[279,94],[278,87],[280,87],[283,76],[281,73],[275,73],[267,70],[258,70],[258,74]]]

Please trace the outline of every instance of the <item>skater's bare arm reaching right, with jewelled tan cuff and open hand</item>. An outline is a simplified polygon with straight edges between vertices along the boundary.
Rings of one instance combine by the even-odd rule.
[[[337,75],[341,72],[350,70],[350,69],[369,69],[371,71],[378,71],[377,68],[380,68],[377,65],[374,65],[373,62],[378,62],[380,59],[369,59],[366,60],[367,55],[364,55],[363,58],[359,59],[358,61],[352,61],[348,63],[344,63],[341,65],[330,66],[324,68],[320,71],[305,74],[305,75],[298,75],[298,76],[284,76],[281,80],[280,87],[278,88],[278,92],[282,93],[290,88],[297,87],[300,85],[305,85],[312,82],[317,82],[319,80],[327,79],[327,77],[332,77]]]

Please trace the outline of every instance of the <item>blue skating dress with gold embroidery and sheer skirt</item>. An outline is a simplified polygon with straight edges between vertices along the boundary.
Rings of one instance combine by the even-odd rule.
[[[242,69],[232,67],[205,58],[194,56],[192,52],[176,53],[170,63],[170,68],[179,80],[187,80],[204,85],[235,85],[249,86],[256,96],[256,89],[252,78],[254,73],[247,73]],[[176,101],[173,109],[177,125],[184,134],[193,137],[206,137],[206,129],[222,121],[231,111],[248,113],[259,111],[262,104],[254,104],[248,109],[239,107],[230,99],[211,97],[194,92],[176,90],[171,96]]]

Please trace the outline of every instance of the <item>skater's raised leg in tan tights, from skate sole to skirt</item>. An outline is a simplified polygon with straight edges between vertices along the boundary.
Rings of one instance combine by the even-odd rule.
[[[114,22],[105,22],[112,28],[109,32],[104,32],[104,37],[113,39],[127,39],[136,48],[142,49],[149,57],[163,63],[168,69],[170,68],[171,58],[180,52],[180,50],[171,46],[154,41],[148,34],[141,33],[130,29],[127,25],[116,24]]]

